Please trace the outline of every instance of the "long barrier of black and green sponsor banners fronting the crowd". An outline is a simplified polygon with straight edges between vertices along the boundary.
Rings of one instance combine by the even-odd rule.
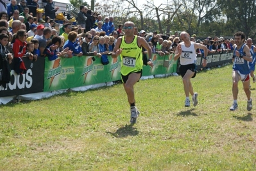
[[[174,54],[160,56],[153,54],[153,67],[143,66],[143,76],[168,76],[171,73],[178,72],[179,61],[173,60]],[[233,52],[214,53],[207,56],[207,67],[221,65],[231,62]],[[121,60],[120,58],[111,58],[108,56],[110,63],[108,65],[101,64],[101,58],[94,56],[74,56],[73,58],[57,58],[49,61],[48,58],[38,58],[37,61],[30,61],[23,58],[27,72],[26,74],[17,75],[13,70],[13,64],[10,65],[11,81],[6,88],[0,86],[0,104],[6,104],[4,97],[13,99],[19,95],[33,96],[40,92],[53,92],[68,88],[76,88],[81,86],[97,85],[100,83],[108,83],[120,80]],[[164,67],[164,61],[169,63]],[[196,65],[198,69],[202,68],[202,58],[198,56]],[[92,86],[93,87],[93,86]]]

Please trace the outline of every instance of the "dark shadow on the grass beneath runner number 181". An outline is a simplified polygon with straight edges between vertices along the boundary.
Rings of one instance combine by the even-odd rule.
[[[125,125],[123,127],[120,127],[115,131],[115,133],[107,132],[108,134],[112,134],[112,136],[115,136],[116,138],[124,138],[126,136],[136,136],[139,134],[139,131],[137,131],[136,127],[133,127],[133,124],[131,125]]]

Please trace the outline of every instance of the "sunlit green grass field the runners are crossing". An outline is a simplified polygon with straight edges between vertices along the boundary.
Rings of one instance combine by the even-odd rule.
[[[139,81],[134,126],[121,84],[2,105],[0,170],[256,170],[256,84],[229,111],[231,74],[198,72],[190,108],[180,76]]]

